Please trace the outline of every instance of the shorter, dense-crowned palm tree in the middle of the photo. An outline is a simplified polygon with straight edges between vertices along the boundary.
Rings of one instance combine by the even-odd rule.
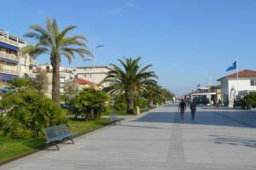
[[[107,77],[102,82],[110,82],[109,87],[104,88],[110,94],[125,93],[127,103],[127,112],[133,113],[134,96],[140,90],[145,89],[149,84],[156,84],[153,78],[154,71],[148,71],[152,65],[142,67],[139,62],[141,57],[137,59],[124,58],[118,59],[123,68],[113,65],[111,71],[108,72]]]

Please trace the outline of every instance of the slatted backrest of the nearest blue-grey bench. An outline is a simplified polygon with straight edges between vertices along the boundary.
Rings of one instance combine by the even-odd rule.
[[[52,139],[57,136],[69,133],[67,125],[57,125],[54,127],[44,128],[44,134],[47,140]]]

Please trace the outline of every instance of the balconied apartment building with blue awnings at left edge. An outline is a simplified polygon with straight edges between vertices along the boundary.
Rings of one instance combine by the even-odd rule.
[[[9,81],[15,77],[34,77],[33,70],[38,62],[28,54],[22,54],[20,48],[26,47],[26,41],[0,30],[0,79]]]

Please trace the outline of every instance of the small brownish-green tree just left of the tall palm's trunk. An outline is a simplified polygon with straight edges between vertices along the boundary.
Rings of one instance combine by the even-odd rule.
[[[38,90],[39,94],[45,94],[49,84],[49,78],[47,77],[47,73],[39,72],[32,84],[34,88]]]

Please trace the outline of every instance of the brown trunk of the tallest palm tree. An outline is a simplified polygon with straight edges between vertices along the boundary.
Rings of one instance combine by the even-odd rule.
[[[52,99],[57,105],[60,105],[61,95],[60,95],[60,66],[61,66],[61,56],[55,55],[51,56],[52,65]]]

